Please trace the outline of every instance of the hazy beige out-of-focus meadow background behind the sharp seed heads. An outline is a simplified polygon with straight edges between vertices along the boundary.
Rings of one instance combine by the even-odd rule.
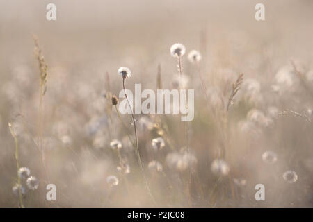
[[[48,3],[56,21],[46,19]],[[255,20],[257,3],[265,21]],[[0,0],[0,8],[1,207],[21,205],[9,122],[19,167],[39,182],[31,189],[21,178],[24,207],[313,206],[313,1]],[[42,110],[33,34],[48,67]],[[177,115],[136,115],[154,204],[127,136],[134,139],[131,119],[120,121],[111,94],[122,89],[122,66],[131,90],[157,89],[157,78],[175,87],[177,42],[195,89],[188,139]],[[187,59],[193,49],[198,66]],[[56,201],[46,200],[49,183]],[[255,200],[257,184],[265,201]]]

